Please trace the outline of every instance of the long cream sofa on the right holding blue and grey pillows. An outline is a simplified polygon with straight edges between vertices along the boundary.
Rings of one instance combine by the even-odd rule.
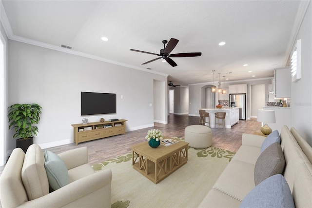
[[[200,208],[232,208],[243,204],[246,195],[256,187],[255,164],[265,139],[258,135],[243,134],[242,146],[203,199]],[[280,139],[285,159],[282,175],[289,186],[294,206],[312,208],[312,147],[295,128],[289,130],[286,125],[280,131]]]

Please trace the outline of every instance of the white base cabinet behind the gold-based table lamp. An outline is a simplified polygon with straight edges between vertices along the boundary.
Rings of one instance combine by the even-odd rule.
[[[290,107],[265,106],[263,107],[263,110],[275,111],[275,123],[274,124],[268,123],[269,127],[272,128],[272,131],[278,130],[278,132],[280,132],[283,125],[287,125],[288,127],[292,126]]]

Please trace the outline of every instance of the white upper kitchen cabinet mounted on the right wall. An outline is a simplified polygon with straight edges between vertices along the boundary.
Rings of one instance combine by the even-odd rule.
[[[274,98],[291,97],[291,67],[274,69]]]

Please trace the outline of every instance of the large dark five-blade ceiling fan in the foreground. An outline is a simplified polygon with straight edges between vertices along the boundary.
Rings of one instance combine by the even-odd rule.
[[[177,64],[172,59],[170,59],[170,57],[194,57],[194,56],[201,56],[201,52],[198,52],[198,53],[176,53],[176,54],[170,54],[171,51],[176,47],[176,44],[177,44],[177,42],[179,42],[179,40],[176,40],[176,39],[172,38],[172,39],[170,39],[170,41],[168,42],[168,44],[166,46],[167,42],[168,42],[167,40],[163,40],[162,41],[162,43],[164,43],[164,48],[160,49],[160,54],[150,53],[150,52],[146,52],[146,51],[140,51],[140,50],[136,50],[136,49],[130,49],[130,50],[131,51],[140,52],[140,53],[147,53],[147,54],[160,56],[160,57],[158,57],[156,59],[153,59],[151,61],[148,61],[148,62],[145,62],[145,63],[142,63],[142,64],[154,62],[154,61],[156,61],[158,59],[163,58],[164,60],[166,60],[166,62],[168,62],[173,67],[177,66]]]

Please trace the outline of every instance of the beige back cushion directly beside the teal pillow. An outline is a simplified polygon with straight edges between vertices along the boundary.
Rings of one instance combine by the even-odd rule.
[[[28,147],[21,170],[21,178],[28,200],[37,199],[49,193],[49,182],[40,146],[33,144]]]

